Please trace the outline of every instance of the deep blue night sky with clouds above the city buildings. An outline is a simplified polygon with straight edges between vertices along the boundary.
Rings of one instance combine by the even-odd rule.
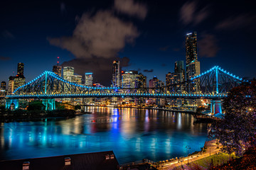
[[[185,35],[197,31],[201,72],[218,65],[256,77],[253,1],[1,1],[0,81],[25,64],[26,81],[60,57],[75,73],[110,86],[112,61],[165,81],[185,61]]]

